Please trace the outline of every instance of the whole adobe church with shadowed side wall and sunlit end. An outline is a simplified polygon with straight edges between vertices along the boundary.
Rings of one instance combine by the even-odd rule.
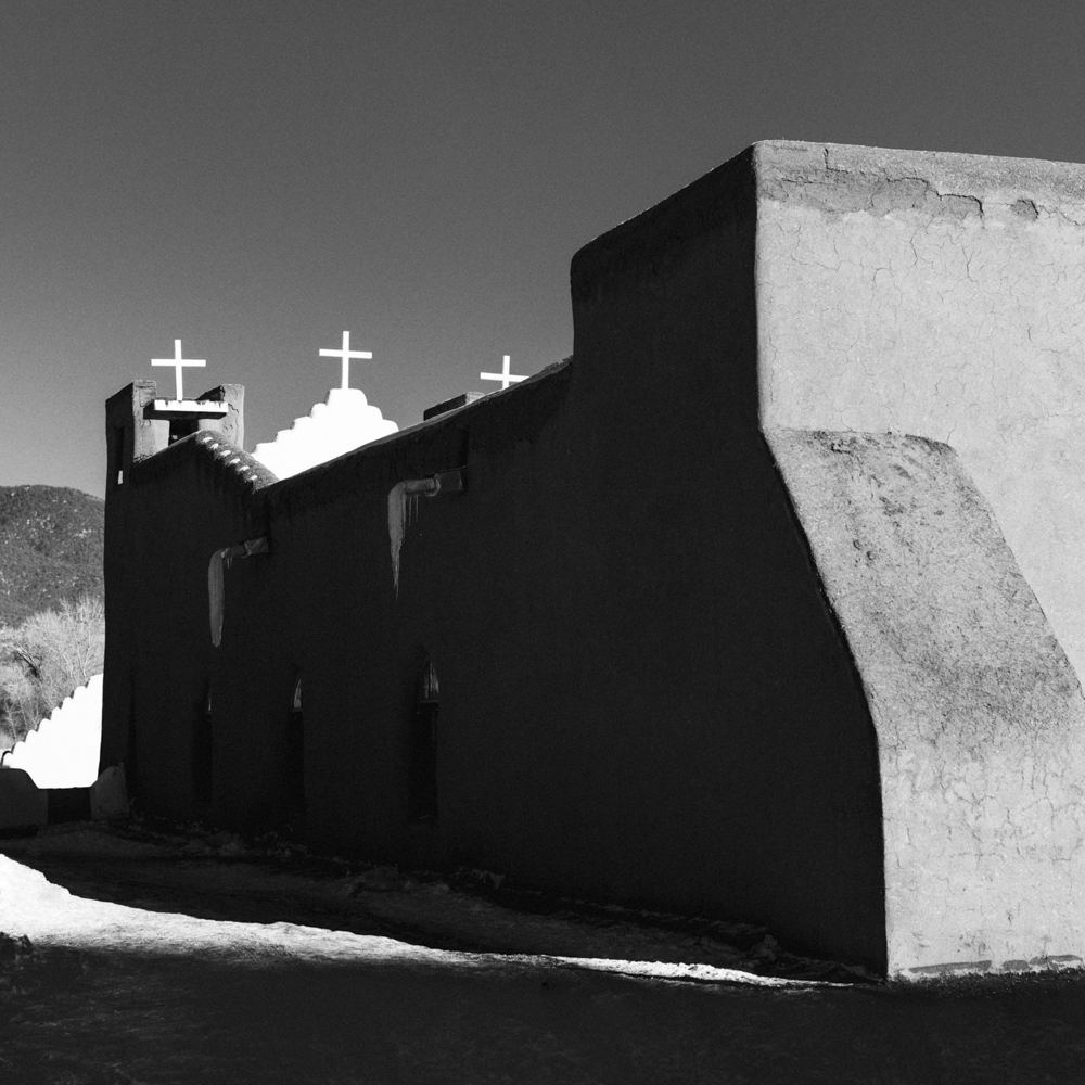
[[[289,477],[239,386],[137,381],[101,767],[884,974],[1082,965],[1083,257],[1085,166],[765,142],[576,254],[571,360]]]

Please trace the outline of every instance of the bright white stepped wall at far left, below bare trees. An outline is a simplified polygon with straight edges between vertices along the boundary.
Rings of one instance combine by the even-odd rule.
[[[66,697],[3,757],[39,788],[89,788],[102,745],[102,676]]]

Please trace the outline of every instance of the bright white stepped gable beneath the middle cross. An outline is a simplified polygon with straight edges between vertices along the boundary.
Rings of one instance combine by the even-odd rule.
[[[275,441],[258,444],[253,459],[277,478],[290,478],[398,432],[399,426],[371,407],[360,388],[332,388],[324,403],[295,419],[289,430],[280,430]]]

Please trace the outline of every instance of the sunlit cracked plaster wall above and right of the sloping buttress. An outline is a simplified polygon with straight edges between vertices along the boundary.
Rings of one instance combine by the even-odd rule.
[[[1085,167],[756,150],[763,424],[950,444],[1085,674]]]

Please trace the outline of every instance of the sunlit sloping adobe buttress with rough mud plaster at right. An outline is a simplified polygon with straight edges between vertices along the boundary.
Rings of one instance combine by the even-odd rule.
[[[1085,699],[946,445],[770,444],[878,730],[889,970],[1081,963]]]

